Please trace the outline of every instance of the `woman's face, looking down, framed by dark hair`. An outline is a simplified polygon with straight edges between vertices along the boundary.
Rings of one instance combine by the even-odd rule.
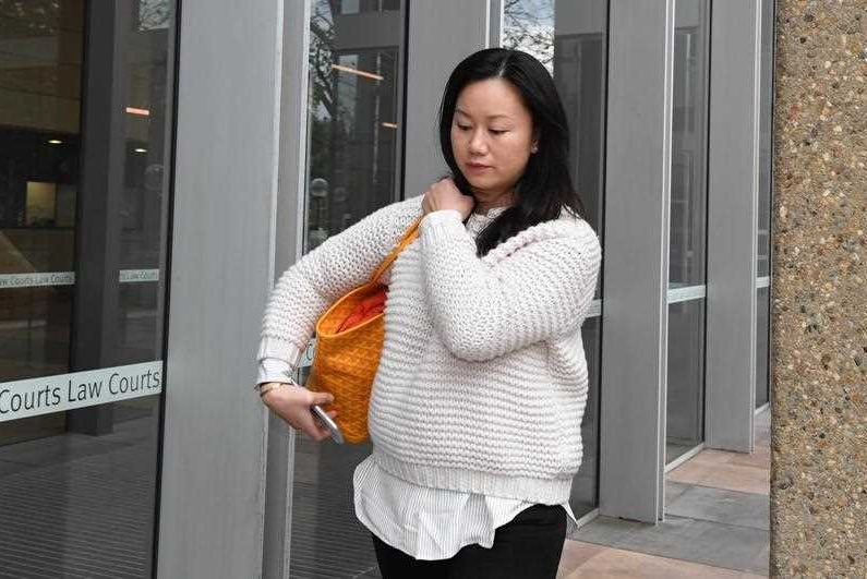
[[[470,83],[451,119],[451,152],[477,201],[510,204],[515,184],[535,147],[532,116],[508,81]]]

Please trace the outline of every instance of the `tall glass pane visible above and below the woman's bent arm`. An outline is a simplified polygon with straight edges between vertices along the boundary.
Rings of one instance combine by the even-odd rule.
[[[311,12],[305,252],[397,198],[405,20],[397,0],[314,0]],[[374,576],[352,500],[370,454],[370,444],[296,436],[291,577]]]

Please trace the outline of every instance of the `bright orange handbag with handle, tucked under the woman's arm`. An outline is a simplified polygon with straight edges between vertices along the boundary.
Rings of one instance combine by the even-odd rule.
[[[335,422],[348,443],[368,439],[368,406],[385,339],[383,309],[387,286],[380,276],[419,234],[418,218],[383,260],[370,281],[338,299],[316,322],[316,352],[305,386],[328,391]]]

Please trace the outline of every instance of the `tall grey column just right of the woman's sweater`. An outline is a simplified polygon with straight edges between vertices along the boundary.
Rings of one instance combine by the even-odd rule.
[[[663,514],[674,0],[612,0],[600,512]]]

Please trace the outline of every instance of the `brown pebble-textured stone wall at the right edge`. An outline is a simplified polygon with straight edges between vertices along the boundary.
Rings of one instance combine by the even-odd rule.
[[[867,577],[866,77],[867,0],[778,0],[772,576]]]

